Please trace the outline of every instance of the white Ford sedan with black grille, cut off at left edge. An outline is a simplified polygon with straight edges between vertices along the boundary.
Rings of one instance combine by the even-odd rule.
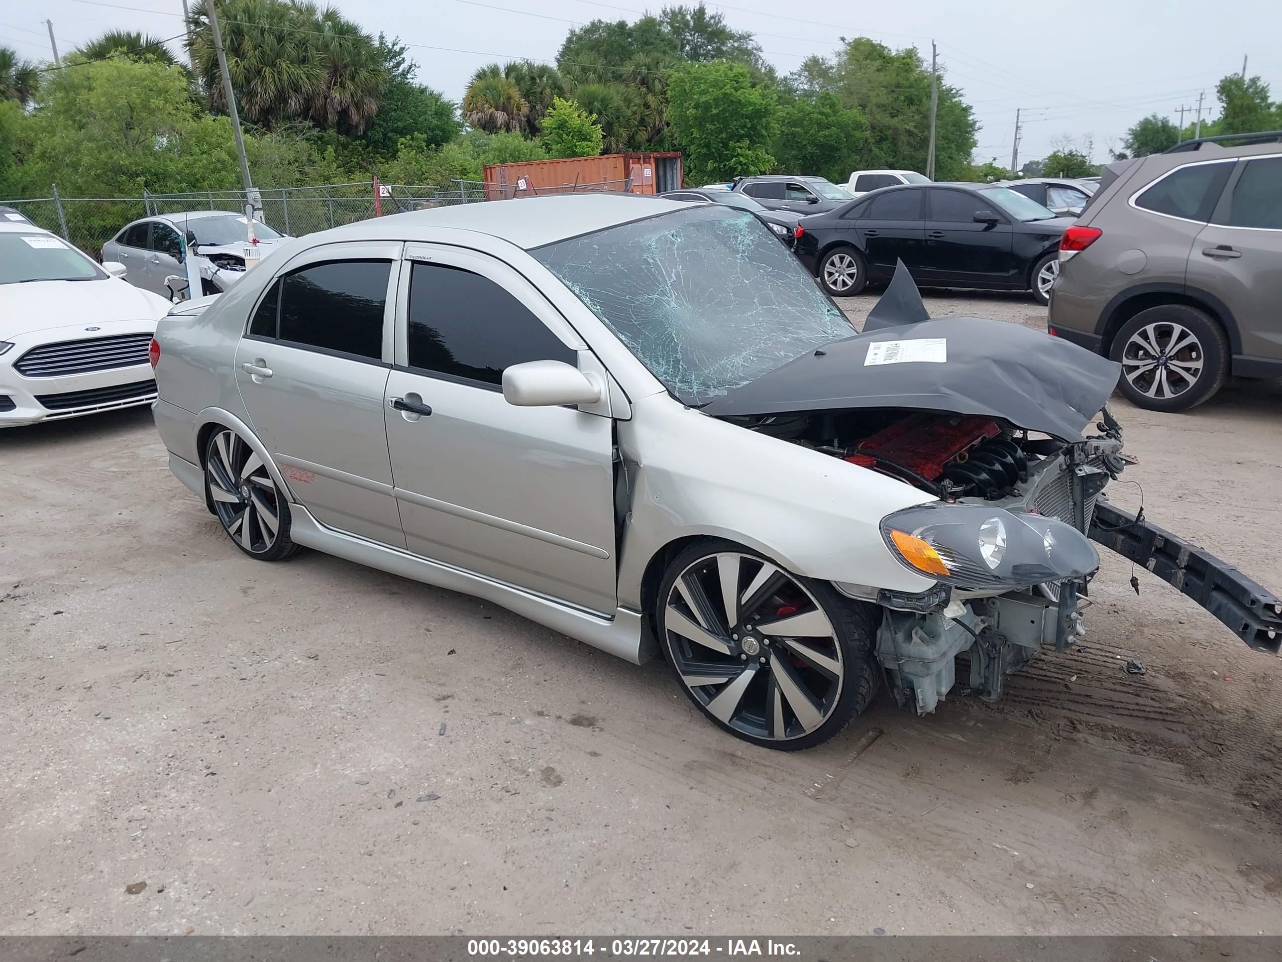
[[[105,268],[105,269],[104,269]],[[0,223],[0,427],[150,404],[168,300],[29,223]]]

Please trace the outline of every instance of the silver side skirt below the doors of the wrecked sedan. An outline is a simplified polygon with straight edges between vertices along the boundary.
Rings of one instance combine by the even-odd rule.
[[[335,531],[294,502],[290,503],[290,514],[292,517],[290,537],[297,544],[414,581],[483,598],[633,664],[645,661],[641,654],[642,618],[638,612],[618,608],[613,617],[603,617],[532,594],[515,585]]]

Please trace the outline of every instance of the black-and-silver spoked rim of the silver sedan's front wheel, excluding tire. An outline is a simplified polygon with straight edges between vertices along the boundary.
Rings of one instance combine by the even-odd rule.
[[[801,738],[837,705],[836,629],[815,598],[769,562],[733,552],[694,562],[672,584],[663,630],[691,694],[737,731]]]

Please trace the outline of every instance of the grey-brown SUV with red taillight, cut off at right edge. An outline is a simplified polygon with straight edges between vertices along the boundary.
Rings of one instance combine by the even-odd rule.
[[[1141,408],[1282,377],[1282,132],[1246,137],[1109,164],[1064,233],[1050,331],[1120,362]]]

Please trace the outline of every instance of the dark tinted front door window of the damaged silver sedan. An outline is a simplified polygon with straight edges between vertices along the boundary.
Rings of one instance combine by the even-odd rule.
[[[409,366],[485,384],[527,360],[578,363],[535,317],[494,281],[444,264],[419,264],[409,277]]]

